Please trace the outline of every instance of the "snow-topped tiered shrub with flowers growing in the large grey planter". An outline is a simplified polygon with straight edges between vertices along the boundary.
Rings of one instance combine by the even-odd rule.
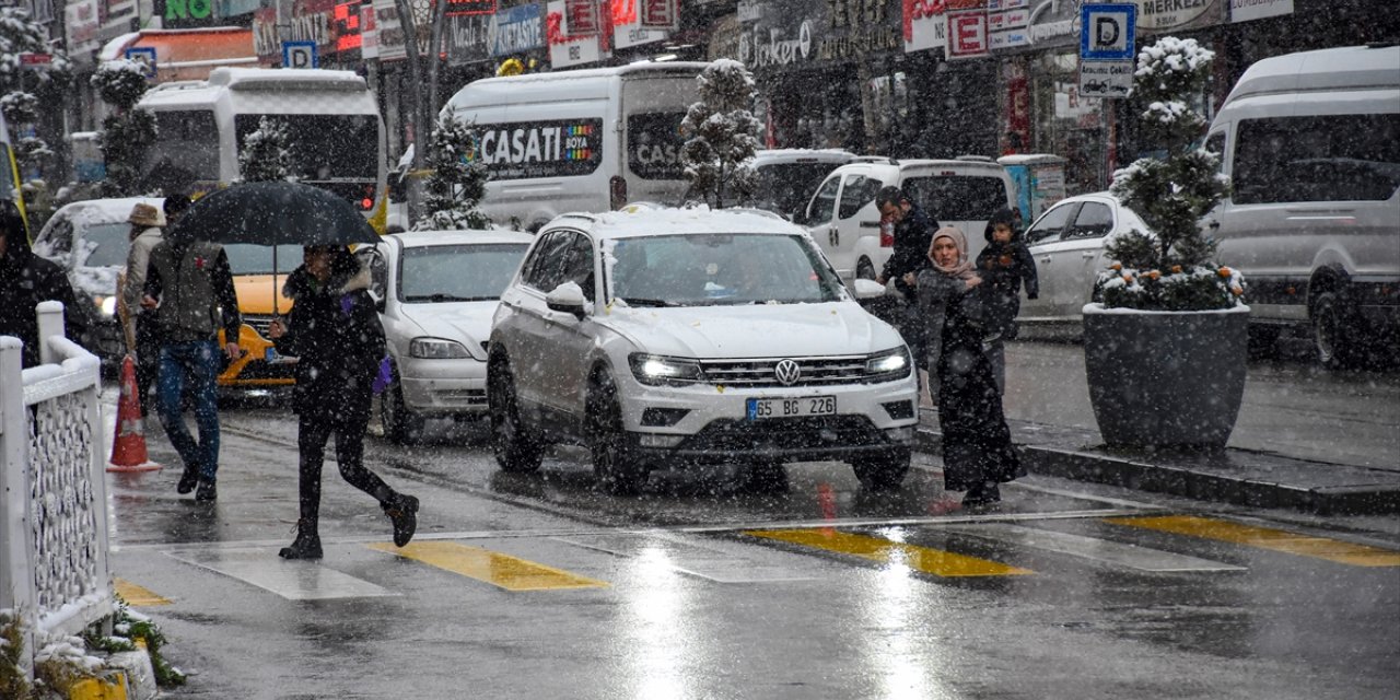
[[[1225,196],[1219,155],[1193,146],[1205,119],[1189,99],[1210,80],[1215,53],[1196,39],[1163,36],[1138,53],[1134,98],[1145,104],[1142,130],[1165,158],[1142,158],[1113,174],[1110,190],[1152,230],[1109,242],[1114,260],[1099,274],[1107,308],[1207,311],[1232,308],[1245,294],[1243,276],[1214,263],[1215,242],[1197,221]]]

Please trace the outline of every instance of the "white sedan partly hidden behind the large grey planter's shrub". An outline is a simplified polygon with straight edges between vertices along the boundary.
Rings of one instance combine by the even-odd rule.
[[[1081,322],[1093,283],[1109,265],[1103,246],[1134,228],[1148,231],[1131,209],[1107,192],[1065,197],[1040,214],[1023,237],[1036,262],[1040,298],[1022,297],[1018,321]]]

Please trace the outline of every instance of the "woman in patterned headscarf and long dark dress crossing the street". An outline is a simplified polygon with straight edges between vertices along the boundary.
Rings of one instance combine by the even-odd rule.
[[[920,307],[928,319],[928,365],[937,368],[938,423],[944,431],[944,489],[967,491],[963,505],[1001,500],[997,484],[1025,475],[1001,412],[1001,393],[983,347],[981,279],[967,258],[967,237],[955,227],[934,232],[932,269],[918,273]]]

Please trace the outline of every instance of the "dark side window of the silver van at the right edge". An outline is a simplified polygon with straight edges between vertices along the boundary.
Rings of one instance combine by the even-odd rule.
[[[1400,115],[1246,119],[1236,144],[1239,204],[1382,202],[1400,189]]]

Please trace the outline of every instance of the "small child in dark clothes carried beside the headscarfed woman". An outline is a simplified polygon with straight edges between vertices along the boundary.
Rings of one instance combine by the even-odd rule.
[[[986,304],[987,356],[991,358],[997,391],[1007,392],[1007,347],[1005,342],[1016,337],[1016,316],[1021,314],[1021,283],[1026,283],[1026,298],[1040,295],[1036,279],[1036,260],[1026,244],[1021,241],[1016,214],[1001,207],[983,232],[987,246],[977,253],[977,273],[987,284],[981,294]]]

